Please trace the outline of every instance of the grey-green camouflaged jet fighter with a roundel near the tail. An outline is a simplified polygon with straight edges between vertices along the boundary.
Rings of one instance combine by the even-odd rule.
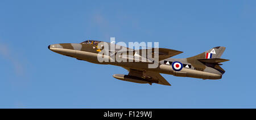
[[[48,46],[53,52],[59,53],[61,55],[74,57],[77,60],[84,60],[95,64],[110,64],[123,67],[129,71],[128,75],[113,75],[114,78],[123,81],[136,82],[139,84],[171,84],[160,75],[160,73],[174,75],[179,77],[193,77],[202,79],[216,80],[222,78],[225,73],[224,69],[220,67],[221,63],[228,61],[226,59],[221,59],[222,53],[225,51],[225,47],[214,47],[200,53],[199,55],[188,57],[185,59],[172,59],[170,57],[183,53],[181,51],[176,51],[174,49],[159,48],[159,60],[154,61],[146,58],[146,61],[133,61],[133,62],[100,62],[97,57],[98,54],[104,48],[99,48],[98,44],[102,43],[97,40],[86,40],[82,43],[63,43],[63,44],[51,44]],[[107,44],[113,44],[104,42]],[[115,44],[117,45],[117,44]],[[102,47],[102,46],[101,46]],[[123,46],[118,46],[119,49],[114,49],[115,51],[110,51],[109,59],[111,55],[117,55],[118,53],[123,53],[120,51]],[[150,48],[152,55],[154,56],[154,49]],[[134,60],[134,56],[141,56],[142,51],[147,51],[148,49],[131,49],[127,48],[126,52],[130,52],[132,56],[122,57],[129,60]],[[139,53],[139,54],[138,54]],[[130,54],[129,54],[130,55]],[[156,68],[148,68],[148,64],[157,62]]]

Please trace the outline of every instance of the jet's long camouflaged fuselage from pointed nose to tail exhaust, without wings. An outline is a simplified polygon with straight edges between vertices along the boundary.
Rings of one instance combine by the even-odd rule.
[[[95,42],[94,42],[95,43]],[[194,78],[203,78],[203,79],[220,79],[222,75],[216,72],[205,72],[201,71],[199,68],[193,67],[193,65],[188,65],[189,67],[183,67],[180,71],[174,71],[171,64],[166,63],[166,61],[180,61],[184,62],[185,59],[166,59],[159,61],[159,65],[157,68],[148,68],[148,64],[152,63],[143,63],[143,62],[99,62],[98,61],[98,53],[101,49],[98,49],[97,44],[91,43],[64,43],[64,44],[52,44],[49,45],[48,48],[56,53],[61,55],[74,57],[78,60],[89,61],[90,63],[95,64],[110,64],[117,65],[123,68],[130,69],[138,69],[141,71],[154,71],[159,73],[164,73],[168,75],[180,76],[180,77],[194,77]],[[108,56],[109,59],[112,59]],[[214,71],[214,69],[210,69],[210,71]]]

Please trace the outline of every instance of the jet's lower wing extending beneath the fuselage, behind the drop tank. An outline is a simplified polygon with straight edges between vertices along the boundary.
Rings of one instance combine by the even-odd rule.
[[[140,77],[152,83],[171,86],[171,84],[157,72],[129,69],[129,76]]]

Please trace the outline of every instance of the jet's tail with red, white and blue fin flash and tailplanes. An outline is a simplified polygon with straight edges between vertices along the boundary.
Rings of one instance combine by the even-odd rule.
[[[211,67],[219,71],[221,74],[224,74],[225,71],[220,67],[220,63],[224,61],[228,61],[226,59],[220,59],[221,55],[225,51],[225,47],[214,47],[212,49],[209,49],[208,51],[205,51],[203,53],[200,53],[199,55],[189,57],[187,60],[191,63],[194,63],[197,66],[197,62],[203,63],[207,67]],[[201,67],[198,65],[197,67]],[[205,67],[202,67],[205,68]]]

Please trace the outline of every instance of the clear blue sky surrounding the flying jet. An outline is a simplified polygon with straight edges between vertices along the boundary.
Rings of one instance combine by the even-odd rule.
[[[255,108],[255,1],[0,1],[1,108]],[[121,67],[49,51],[86,39],[159,42],[197,55],[225,46],[221,80],[119,81]]]

